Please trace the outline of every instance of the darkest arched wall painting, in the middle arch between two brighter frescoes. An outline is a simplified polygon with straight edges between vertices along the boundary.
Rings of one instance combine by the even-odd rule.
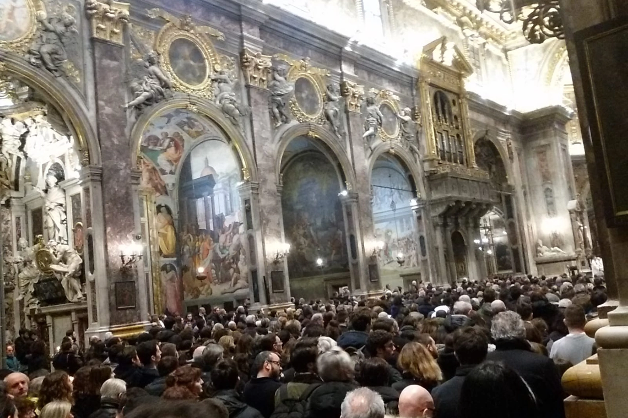
[[[286,241],[291,244],[290,277],[349,271],[338,193],[338,173],[323,154],[301,154],[284,169],[281,208]]]

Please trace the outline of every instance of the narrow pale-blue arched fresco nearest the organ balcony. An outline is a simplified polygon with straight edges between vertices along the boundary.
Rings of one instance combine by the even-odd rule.
[[[373,223],[377,241],[384,246],[379,253],[382,274],[419,267],[413,212],[413,191],[405,169],[387,156],[377,159],[372,172]],[[403,255],[403,266],[397,262]]]

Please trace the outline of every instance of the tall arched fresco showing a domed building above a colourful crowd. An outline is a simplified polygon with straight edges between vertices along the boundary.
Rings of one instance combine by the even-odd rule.
[[[201,195],[185,186],[203,184],[198,180],[208,178],[215,182],[212,194]],[[179,223],[185,299],[248,296],[245,235],[236,190],[240,180],[239,164],[222,141],[201,142],[183,163]],[[199,267],[207,279],[197,279]]]

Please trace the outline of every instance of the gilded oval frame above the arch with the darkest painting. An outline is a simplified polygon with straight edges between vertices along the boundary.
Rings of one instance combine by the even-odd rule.
[[[313,122],[319,125],[325,125],[327,120],[325,119],[325,80],[323,77],[330,75],[328,70],[322,68],[311,67],[310,58],[303,58],[302,60],[293,60],[287,55],[277,54],[273,56],[276,60],[287,62],[290,65],[286,80],[291,83],[296,83],[299,78],[306,78],[314,86],[315,92],[318,97],[318,109],[314,114],[308,114],[305,109],[301,108],[293,94],[290,98],[290,110],[295,119],[301,123]]]

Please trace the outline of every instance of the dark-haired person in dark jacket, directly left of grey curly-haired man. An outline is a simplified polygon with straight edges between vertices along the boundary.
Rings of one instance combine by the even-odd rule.
[[[470,326],[458,328],[453,338],[453,352],[460,366],[456,369],[454,377],[435,387],[431,392],[435,404],[435,418],[460,417],[458,403],[462,383],[475,366],[484,362],[489,348],[487,336]]]

